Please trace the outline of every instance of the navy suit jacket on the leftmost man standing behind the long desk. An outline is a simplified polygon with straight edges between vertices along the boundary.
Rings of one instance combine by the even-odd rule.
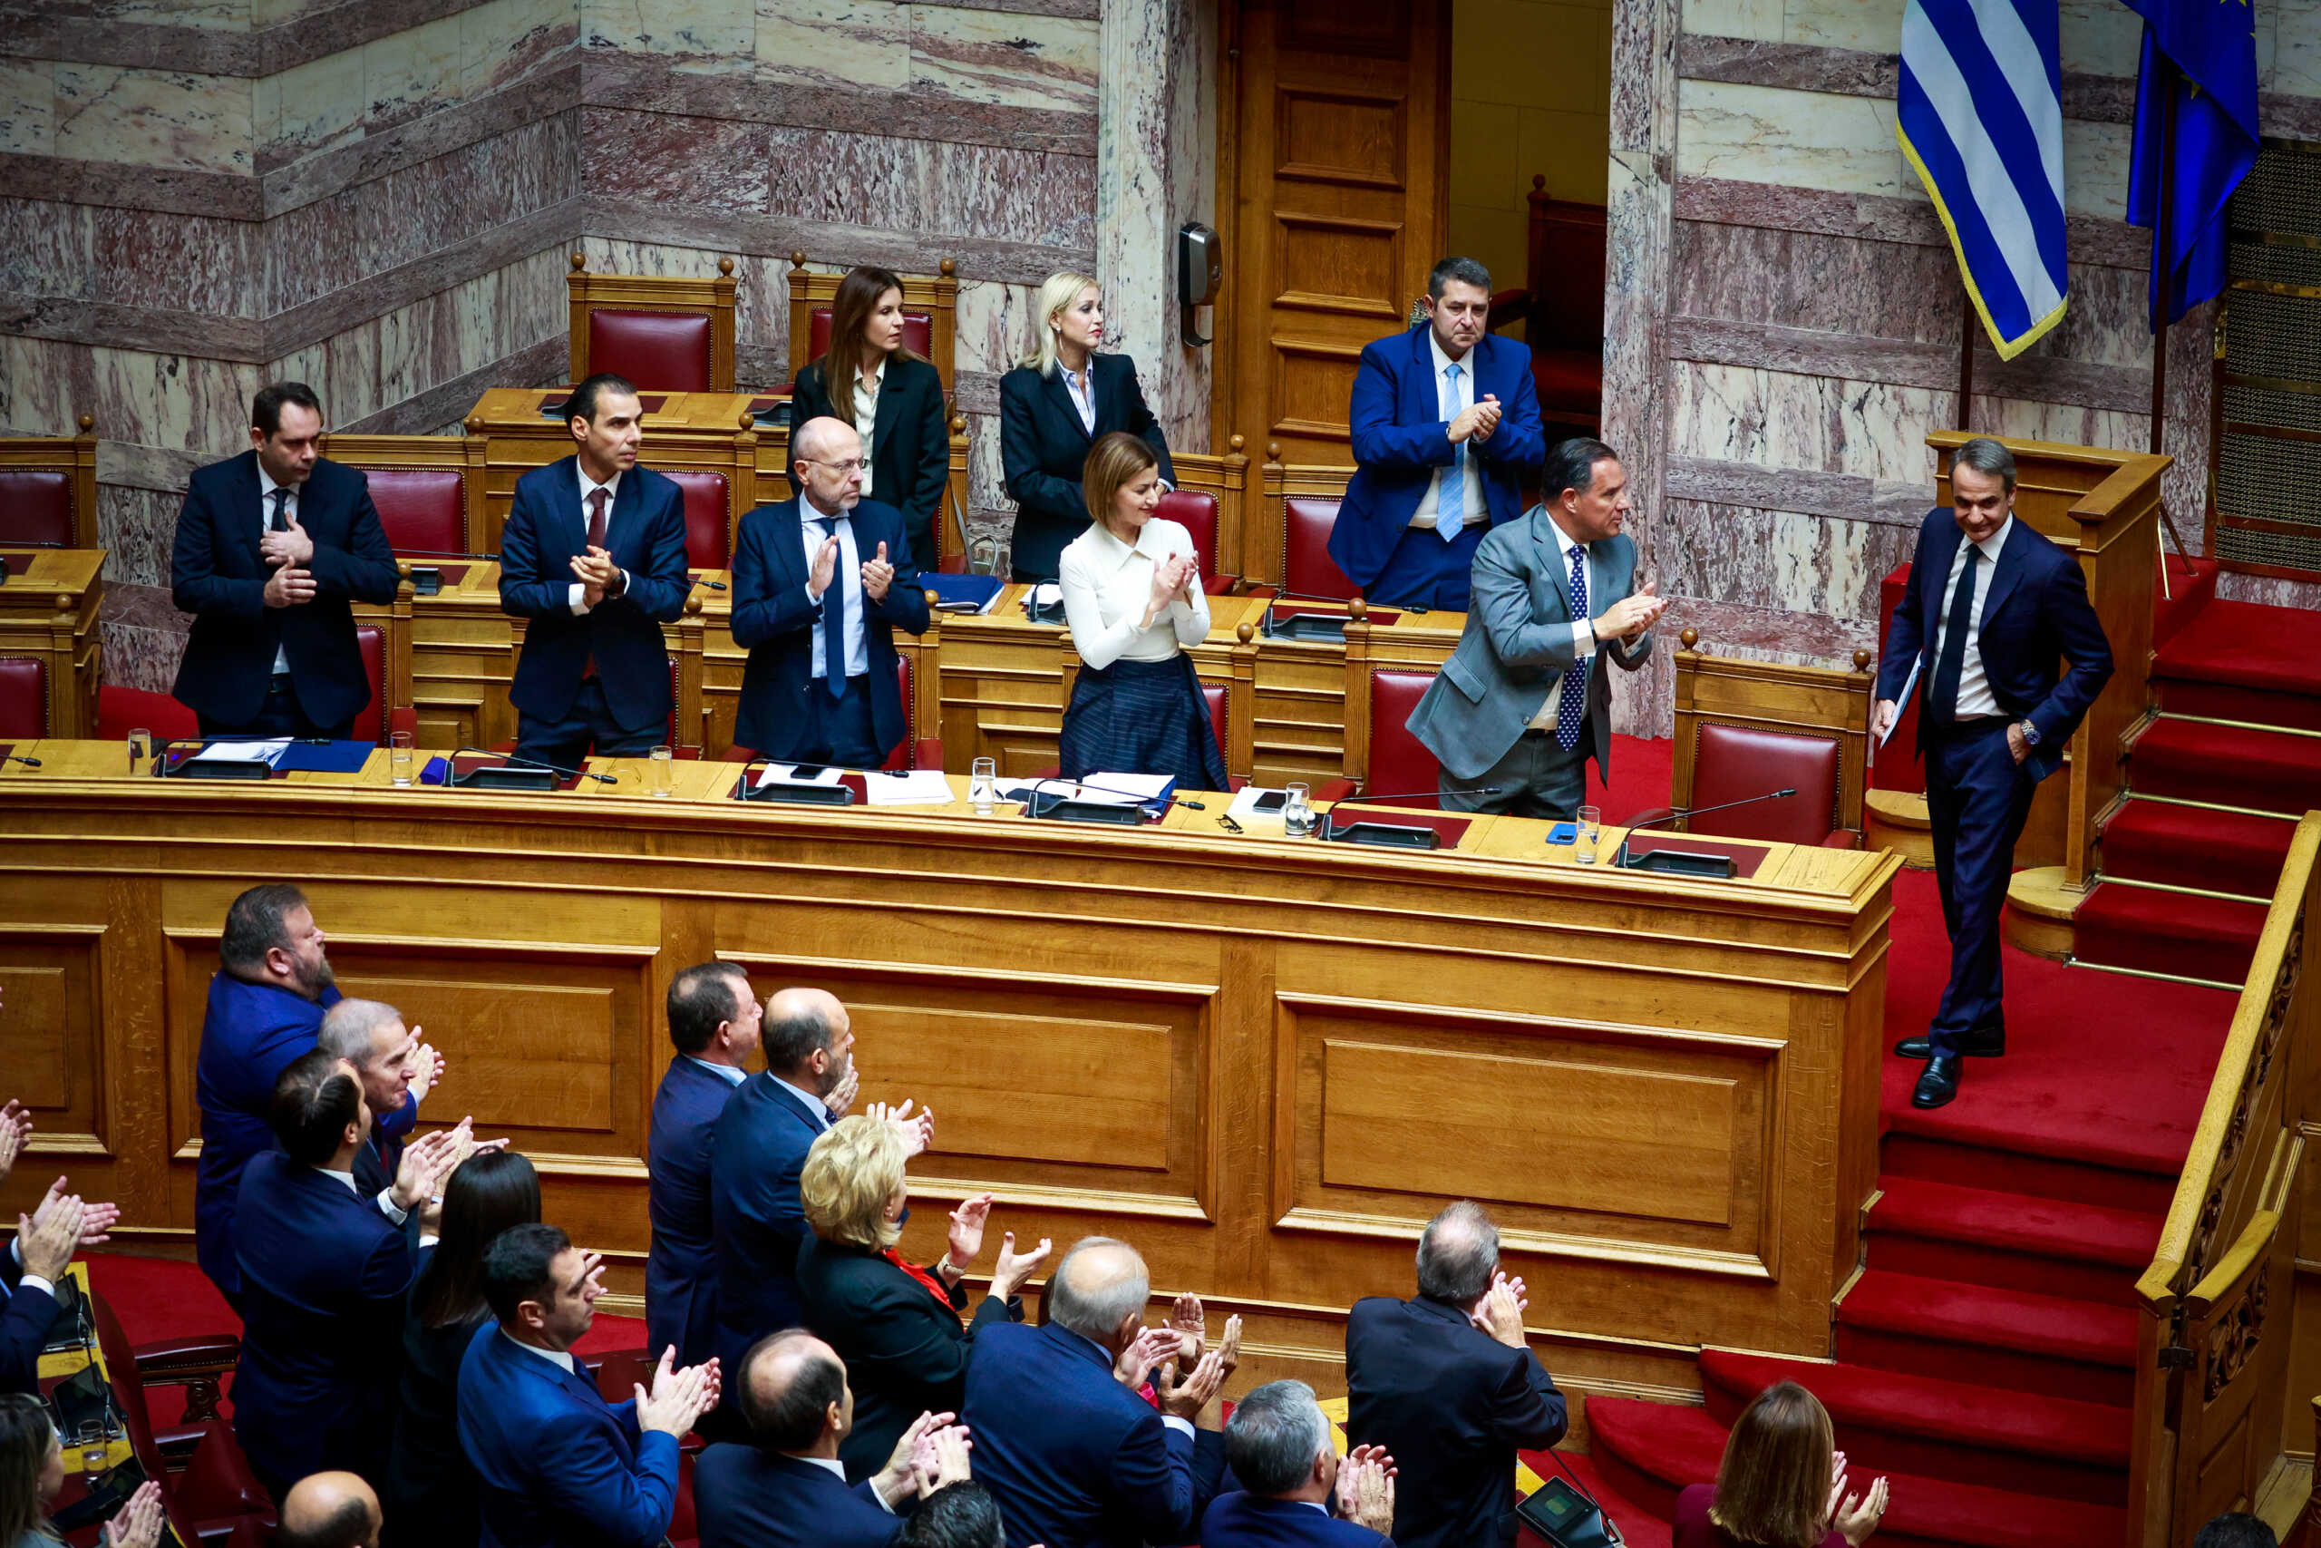
[[[313,538],[313,601],[269,608],[274,566],[258,552],[267,506],[258,497],[258,453],[195,469],[176,513],[169,601],[193,613],[193,636],[176,666],[179,703],[239,724],[258,719],[274,678],[274,652],[290,659],[306,719],[334,726],[371,701],[355,648],[350,601],[395,601],[395,550],[371,506],[371,480],[316,457],[297,492],[297,525]]]

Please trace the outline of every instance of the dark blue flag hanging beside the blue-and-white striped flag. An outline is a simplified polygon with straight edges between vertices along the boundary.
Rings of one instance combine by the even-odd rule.
[[[2145,19],[2128,172],[2133,225],[2159,227],[2161,179],[2168,181],[2168,230],[2152,232],[2152,311],[2161,327],[2163,262],[2175,276],[2168,323],[2224,290],[2224,202],[2256,165],[2256,7],[2251,0],[2126,2]]]

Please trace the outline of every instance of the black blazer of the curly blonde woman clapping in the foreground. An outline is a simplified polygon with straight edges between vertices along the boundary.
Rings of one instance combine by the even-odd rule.
[[[817,1235],[798,1244],[805,1325],[847,1362],[847,1386],[854,1388],[854,1430],[838,1444],[847,1483],[887,1467],[910,1420],[959,1413],[968,1395],[968,1351],[979,1328],[1024,1321],[1021,1300],[986,1295],[975,1323],[963,1325],[966,1283],[949,1295],[949,1304],[938,1307],[926,1286],[861,1246]]]

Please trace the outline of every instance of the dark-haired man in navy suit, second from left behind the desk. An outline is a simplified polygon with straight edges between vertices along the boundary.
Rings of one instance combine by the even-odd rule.
[[[508,701],[515,757],[559,768],[668,740],[668,645],[685,613],[685,494],[638,466],[643,408],[620,376],[564,404],[573,455],[515,480],[499,534],[499,606],[525,620]]]

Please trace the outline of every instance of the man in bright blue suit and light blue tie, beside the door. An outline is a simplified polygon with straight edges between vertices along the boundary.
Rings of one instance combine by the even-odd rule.
[[[1362,348],[1353,376],[1353,480],[1330,557],[1372,606],[1467,608],[1483,529],[1523,513],[1546,453],[1532,350],[1485,330],[1490,269],[1444,258],[1427,325]]]

